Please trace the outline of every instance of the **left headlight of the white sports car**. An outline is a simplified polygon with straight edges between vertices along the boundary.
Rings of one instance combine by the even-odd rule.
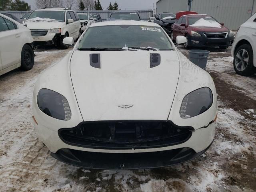
[[[68,100],[55,91],[41,89],[37,95],[37,104],[40,110],[50,117],[64,121],[71,118]]]

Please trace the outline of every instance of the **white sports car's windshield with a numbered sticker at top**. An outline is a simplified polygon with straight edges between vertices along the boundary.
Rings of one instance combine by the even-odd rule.
[[[172,50],[172,44],[160,27],[114,25],[89,27],[78,45],[83,48]]]

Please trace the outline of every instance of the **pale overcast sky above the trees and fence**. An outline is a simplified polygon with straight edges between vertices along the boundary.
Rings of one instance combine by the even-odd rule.
[[[28,2],[31,6],[32,10],[36,9],[36,0],[24,0]],[[102,7],[104,10],[107,9],[109,3],[112,4],[117,2],[119,8],[122,10],[140,10],[140,9],[153,9],[153,3],[157,0],[100,0]],[[156,4],[155,4],[156,7]]]

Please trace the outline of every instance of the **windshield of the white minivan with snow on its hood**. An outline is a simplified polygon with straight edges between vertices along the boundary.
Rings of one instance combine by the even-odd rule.
[[[34,11],[30,14],[28,19],[34,18],[52,19],[58,22],[64,22],[65,11]]]

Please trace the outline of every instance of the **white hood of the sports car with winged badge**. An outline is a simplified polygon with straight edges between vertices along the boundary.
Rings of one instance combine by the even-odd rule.
[[[92,52],[74,51],[70,74],[84,121],[168,119],[179,59],[175,51],[159,51],[160,65],[150,68],[150,52],[94,52],[100,53],[99,69],[90,66]]]

